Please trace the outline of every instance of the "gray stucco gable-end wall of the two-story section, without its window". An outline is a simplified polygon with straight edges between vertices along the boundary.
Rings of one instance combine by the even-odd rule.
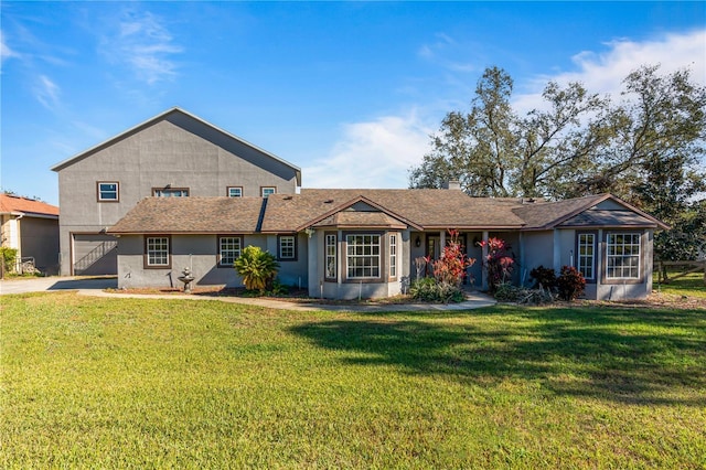
[[[98,181],[117,181],[119,202],[97,202]],[[69,233],[98,233],[167,184],[189,188],[192,196],[225,196],[227,186],[259,196],[260,186],[295,193],[297,174],[202,122],[170,115],[58,171],[62,274],[71,271]]]

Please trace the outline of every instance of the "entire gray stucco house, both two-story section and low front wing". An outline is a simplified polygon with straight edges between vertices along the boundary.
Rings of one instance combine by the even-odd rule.
[[[652,290],[653,233],[665,224],[611,194],[544,202],[446,190],[302,189],[299,168],[181,109],[170,109],[53,168],[62,274],[117,274],[118,287],[243,286],[244,247],[276,254],[278,278],[310,296],[404,292],[417,260],[460,234],[488,287],[480,242],[512,245],[515,284],[538,266],[579,269],[590,299]],[[170,197],[171,196],[171,197]]]

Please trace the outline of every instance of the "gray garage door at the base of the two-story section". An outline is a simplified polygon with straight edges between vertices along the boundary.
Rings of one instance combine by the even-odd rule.
[[[74,234],[74,275],[117,275],[117,238],[110,235]]]

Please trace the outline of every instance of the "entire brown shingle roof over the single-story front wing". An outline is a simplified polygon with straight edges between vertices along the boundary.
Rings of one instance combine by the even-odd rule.
[[[627,212],[588,211],[607,199]],[[302,190],[267,199],[146,197],[108,233],[295,233],[309,226],[549,229],[561,224],[666,228],[610,194],[523,204],[456,190]]]

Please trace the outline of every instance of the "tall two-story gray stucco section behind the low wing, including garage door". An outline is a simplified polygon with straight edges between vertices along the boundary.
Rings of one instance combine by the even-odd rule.
[[[180,108],[52,170],[65,276],[117,274],[117,239],[106,231],[143,197],[267,196],[301,185],[296,165]]]

